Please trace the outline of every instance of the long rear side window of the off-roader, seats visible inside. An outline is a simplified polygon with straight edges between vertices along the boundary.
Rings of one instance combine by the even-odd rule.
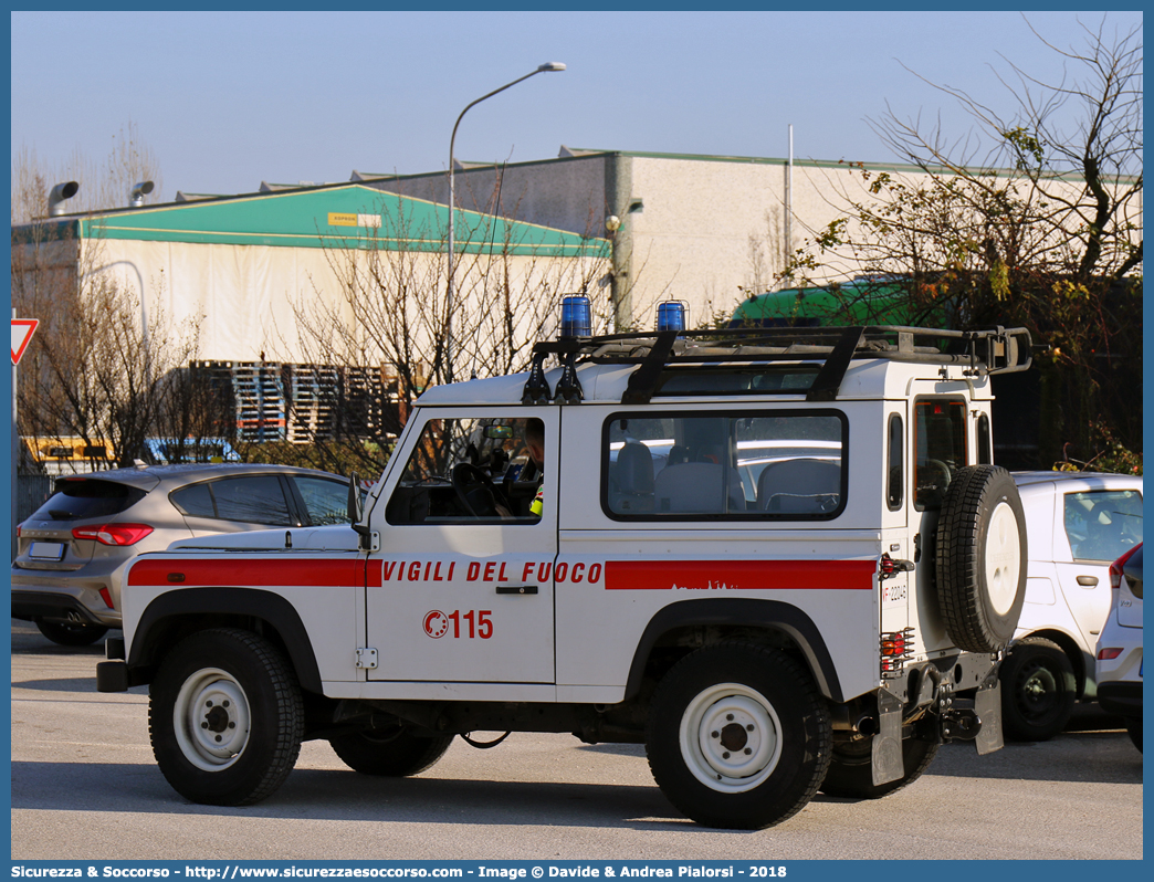
[[[605,427],[602,506],[617,520],[815,520],[845,502],[835,412],[620,414]]]

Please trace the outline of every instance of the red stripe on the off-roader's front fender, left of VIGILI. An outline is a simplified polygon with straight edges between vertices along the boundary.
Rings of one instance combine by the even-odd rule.
[[[375,585],[380,586],[380,567]],[[128,574],[129,585],[172,585],[170,575],[179,574],[182,580],[175,584],[185,586],[210,585],[306,585],[309,588],[339,588],[365,584],[364,560],[294,559],[270,560],[268,558],[241,560],[141,560],[133,565]]]

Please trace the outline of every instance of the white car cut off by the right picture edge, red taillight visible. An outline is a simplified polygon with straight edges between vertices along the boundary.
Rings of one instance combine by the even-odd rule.
[[[1097,638],[1097,703],[1126,719],[1142,749],[1142,546],[1110,565],[1110,615]]]

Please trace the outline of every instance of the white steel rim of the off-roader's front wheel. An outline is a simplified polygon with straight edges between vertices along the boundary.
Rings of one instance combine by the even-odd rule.
[[[180,752],[203,771],[232,765],[248,743],[248,697],[227,671],[204,667],[180,687],[172,723]]]

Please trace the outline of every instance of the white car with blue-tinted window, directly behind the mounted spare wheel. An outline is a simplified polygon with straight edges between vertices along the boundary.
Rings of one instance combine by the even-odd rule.
[[[1002,663],[1006,738],[1044,741],[1093,701],[1110,562],[1142,540],[1140,476],[1016,472],[1026,514],[1026,603]]]

